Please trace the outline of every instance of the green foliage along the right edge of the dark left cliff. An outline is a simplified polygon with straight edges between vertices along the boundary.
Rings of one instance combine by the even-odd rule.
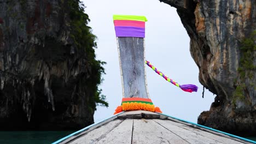
[[[91,27],[88,26],[88,22],[90,22],[89,16],[84,13],[85,6],[79,0],[68,0],[67,3],[71,19],[70,36],[74,40],[75,46],[77,46],[76,48],[86,53],[86,60],[92,68],[92,75],[89,77],[90,80],[83,82],[83,85],[94,92],[94,97],[88,103],[89,108],[93,110],[96,104],[108,106],[108,103],[105,101],[105,95],[102,95],[101,89],[98,89],[98,85],[102,82],[101,76],[105,74],[102,65],[106,63],[95,59],[94,48],[97,47],[95,42],[96,36],[91,33]]]

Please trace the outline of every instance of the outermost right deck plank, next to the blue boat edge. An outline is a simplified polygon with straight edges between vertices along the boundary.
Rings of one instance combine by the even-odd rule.
[[[246,142],[246,141],[236,139],[234,137],[230,137],[230,136],[225,135],[225,134],[217,133],[217,132],[212,131],[212,130],[208,130],[208,129],[205,129],[205,128],[198,127],[198,126],[193,125],[193,124],[181,122],[181,121],[178,121],[177,119],[173,119],[173,118],[170,118],[170,117],[168,119],[171,120],[171,121],[168,121],[168,123],[170,123],[172,125],[176,125],[180,128],[183,128],[183,129],[189,130],[191,132],[194,132],[197,135],[208,137],[209,139],[212,139],[212,140],[218,140],[219,142],[222,142],[222,143],[249,143],[249,142]]]

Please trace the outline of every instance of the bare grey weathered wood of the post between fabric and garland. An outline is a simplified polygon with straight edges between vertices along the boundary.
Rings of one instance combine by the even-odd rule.
[[[117,40],[124,98],[149,98],[144,68],[144,39],[119,37]]]

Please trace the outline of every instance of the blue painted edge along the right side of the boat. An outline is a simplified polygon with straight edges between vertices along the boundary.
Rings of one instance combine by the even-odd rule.
[[[156,112],[156,113],[159,113],[159,112]],[[220,130],[217,130],[217,129],[213,129],[213,128],[210,128],[210,127],[206,127],[206,126],[201,125],[201,124],[197,124],[197,123],[185,121],[184,119],[181,119],[181,118],[172,117],[172,116],[166,115],[166,114],[164,114],[164,113],[159,113],[159,114],[160,114],[160,115],[167,116],[167,117],[171,117],[171,118],[174,118],[174,119],[177,119],[177,120],[182,121],[182,122],[185,122],[185,123],[194,124],[194,125],[197,125],[197,126],[202,127],[202,128],[206,128],[206,129],[209,129],[209,130],[212,130],[212,131],[216,131],[216,132],[218,132],[218,133],[222,133],[222,134],[225,134],[225,135],[228,135],[228,136],[232,136],[232,137],[235,137],[235,138],[237,138],[237,139],[241,139],[241,140],[244,140],[244,141],[256,143],[256,141],[249,140],[249,139],[245,139],[245,138],[243,138],[243,137],[236,136],[236,135],[232,135],[232,134],[229,134],[229,133],[225,133],[224,131],[220,131]]]

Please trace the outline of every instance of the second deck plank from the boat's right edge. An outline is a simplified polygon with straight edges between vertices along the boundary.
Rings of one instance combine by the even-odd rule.
[[[190,143],[202,143],[202,144],[207,144],[207,143],[221,143],[217,140],[212,140],[209,139],[208,137],[199,135],[197,133],[194,133],[192,131],[189,131],[187,129],[178,127],[177,125],[174,124],[170,124],[168,123],[168,121],[170,120],[160,120],[160,119],[154,119],[154,121],[156,123],[159,123],[160,125],[162,125],[162,127],[165,127],[166,129],[172,131],[172,133],[177,134],[178,136],[182,137],[184,140],[190,142]]]

